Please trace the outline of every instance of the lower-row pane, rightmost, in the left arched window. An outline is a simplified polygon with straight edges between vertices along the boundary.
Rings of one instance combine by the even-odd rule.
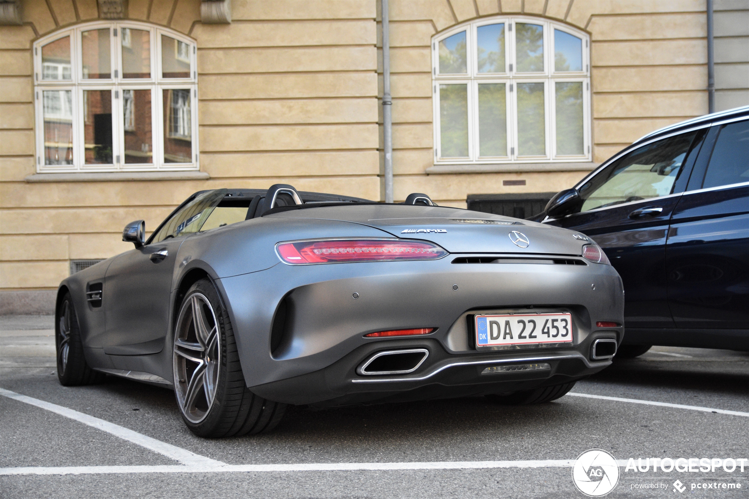
[[[192,163],[192,114],[188,88],[164,90],[164,162]]]

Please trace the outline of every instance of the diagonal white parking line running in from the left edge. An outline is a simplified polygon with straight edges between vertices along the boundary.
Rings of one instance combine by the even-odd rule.
[[[70,417],[70,419],[72,420],[76,420],[85,425],[100,429],[103,432],[115,435],[115,437],[119,437],[123,440],[132,442],[133,444],[145,447],[148,450],[153,450],[155,453],[159,453],[162,456],[174,459],[175,461],[181,462],[183,465],[219,466],[224,464],[220,461],[215,461],[205,456],[200,456],[198,454],[192,453],[189,450],[182,449],[181,447],[177,447],[176,445],[167,444],[166,442],[157,440],[156,438],[142,435],[139,432],[133,432],[132,429],[127,429],[124,426],[119,426],[115,423],[109,423],[109,421],[99,419],[98,417],[89,416],[88,414],[83,414],[82,412],[63,407],[62,405],[56,405],[40,399],[26,397],[25,395],[16,394],[16,392],[5,390],[4,388],[0,388],[0,395],[9,399],[18,400],[19,402],[35,405],[39,408],[46,409],[47,411],[52,411],[55,414],[60,414],[64,417]]]

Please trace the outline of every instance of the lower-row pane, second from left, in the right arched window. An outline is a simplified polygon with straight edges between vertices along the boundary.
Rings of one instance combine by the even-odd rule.
[[[504,83],[479,85],[479,156],[507,156]]]

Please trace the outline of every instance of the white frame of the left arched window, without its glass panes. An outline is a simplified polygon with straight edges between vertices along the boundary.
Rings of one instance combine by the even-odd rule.
[[[110,79],[83,79],[82,43],[83,31],[109,28],[110,58],[112,73]],[[151,34],[151,77],[125,79],[122,73],[122,28],[139,29]],[[119,36],[115,36],[115,31]],[[189,77],[162,78],[161,35],[165,34],[178,42],[187,43],[189,49]],[[64,37],[70,37],[70,78],[69,80],[43,80],[42,47]],[[34,117],[36,123],[37,173],[49,172],[113,172],[113,171],[191,171],[200,168],[198,159],[198,85],[195,40],[167,28],[145,22],[87,22],[49,34],[34,43]],[[116,73],[115,73],[116,71]],[[186,89],[190,92],[190,120],[192,161],[167,163],[164,161],[164,128],[162,117],[163,90]],[[112,164],[85,165],[84,99],[85,90],[112,91]],[[151,163],[125,164],[124,90],[151,91]],[[73,165],[45,165],[43,91],[72,91],[73,100]],[[116,97],[115,97],[116,96]]]

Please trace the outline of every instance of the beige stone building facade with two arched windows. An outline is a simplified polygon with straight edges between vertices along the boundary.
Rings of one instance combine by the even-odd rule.
[[[3,313],[201,189],[384,199],[379,1],[0,7]],[[715,37],[716,110],[747,105],[749,1]],[[390,0],[389,47],[396,202],[557,192],[708,112],[705,0]]]

